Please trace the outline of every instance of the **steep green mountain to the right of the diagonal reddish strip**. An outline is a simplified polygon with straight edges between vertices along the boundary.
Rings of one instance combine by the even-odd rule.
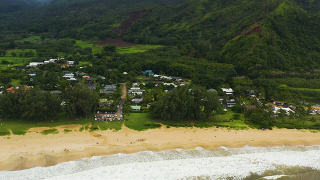
[[[198,55],[244,74],[314,69],[320,67],[320,15],[306,7],[294,0],[188,0],[144,14],[124,39],[190,43]]]

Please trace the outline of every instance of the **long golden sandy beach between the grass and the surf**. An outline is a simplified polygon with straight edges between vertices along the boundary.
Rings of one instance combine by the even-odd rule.
[[[296,129],[229,130],[226,128],[166,128],[134,131],[125,126],[119,131],[75,131],[79,125],[56,127],[58,134],[42,135],[45,127],[31,128],[25,135],[0,138],[0,170],[21,170],[96,155],[134,153],[144,150],[214,149],[253,146],[295,146],[320,144],[320,132]],[[73,129],[63,133],[63,129]],[[143,139],[143,140],[142,140]],[[68,149],[69,151],[64,151]]]

